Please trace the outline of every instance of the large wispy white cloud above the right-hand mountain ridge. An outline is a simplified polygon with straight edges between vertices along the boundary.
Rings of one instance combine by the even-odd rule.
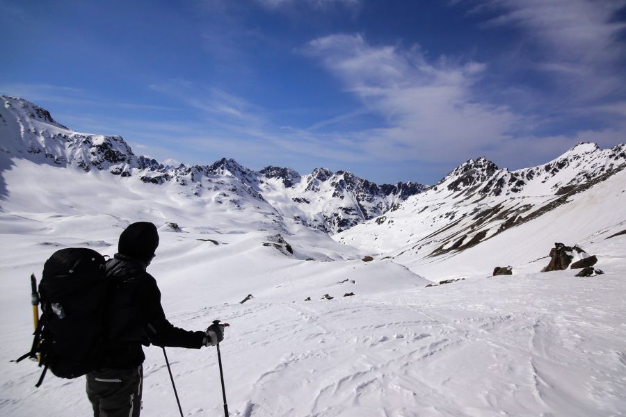
[[[524,119],[504,106],[476,101],[483,63],[445,57],[429,63],[419,47],[372,46],[362,35],[312,40],[303,53],[321,60],[387,126],[353,133],[378,158],[458,161],[501,147]]]

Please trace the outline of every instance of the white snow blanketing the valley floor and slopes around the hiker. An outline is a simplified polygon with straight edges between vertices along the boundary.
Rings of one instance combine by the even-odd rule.
[[[231,325],[220,349],[232,416],[626,416],[626,235],[609,238],[626,230],[625,170],[501,233],[504,220],[490,220],[493,237],[479,245],[426,256],[451,244],[435,236],[419,247],[425,236],[474,208],[537,210],[581,167],[572,160],[561,177],[521,195],[429,190],[381,224],[335,236],[348,245],[292,220],[292,196],[278,179],[263,186],[277,211],[247,193],[230,204],[235,194],[196,196],[178,183],[25,158],[18,145],[5,149],[13,158],[0,154],[0,415],[90,414],[82,377],[49,374],[35,389],[40,368],[10,363],[31,344],[29,277],[63,247],[112,256],[120,232],[145,220],[159,227],[148,271],[170,321]],[[607,166],[601,152],[579,145],[569,153]],[[444,216],[451,211],[454,220]],[[554,242],[580,245],[604,274],[539,272]],[[362,261],[367,254],[374,261]],[[490,276],[505,265],[513,275]],[[143,415],[175,416],[163,352],[145,351]],[[168,348],[168,357],[185,415],[222,415],[216,350]]]

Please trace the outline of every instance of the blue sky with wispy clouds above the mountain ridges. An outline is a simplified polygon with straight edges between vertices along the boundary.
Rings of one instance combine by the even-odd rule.
[[[0,0],[0,92],[136,154],[434,183],[626,142],[626,0]]]

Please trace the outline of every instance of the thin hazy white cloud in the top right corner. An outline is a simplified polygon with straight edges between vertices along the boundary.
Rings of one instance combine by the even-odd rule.
[[[626,0],[485,0],[476,9],[498,13],[485,27],[514,26],[535,46],[525,57],[549,73],[570,99],[591,102],[625,92]]]

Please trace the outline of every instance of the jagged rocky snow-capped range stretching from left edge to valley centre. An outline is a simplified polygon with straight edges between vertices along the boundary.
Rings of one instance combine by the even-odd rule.
[[[378,186],[350,172],[326,168],[305,176],[284,167],[256,172],[226,158],[212,165],[170,167],[136,156],[120,136],[78,133],[29,101],[10,96],[1,100],[0,152],[9,157],[85,172],[106,171],[156,185],[177,183],[177,193],[209,195],[235,208],[269,204],[279,215],[329,233],[383,214],[426,188],[411,182]]]

